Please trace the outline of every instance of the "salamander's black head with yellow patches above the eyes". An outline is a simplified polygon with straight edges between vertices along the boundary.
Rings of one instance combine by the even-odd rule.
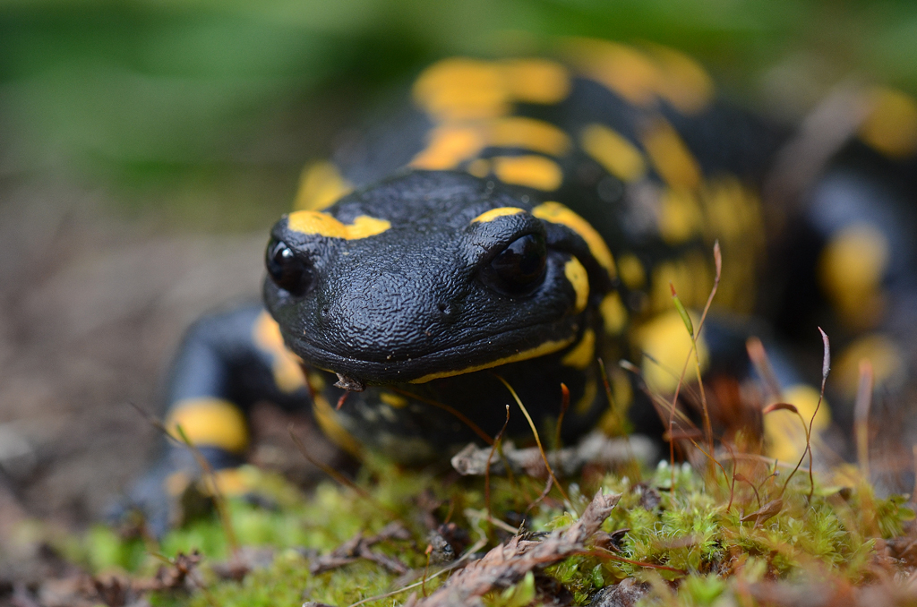
[[[612,286],[601,238],[570,216],[585,224],[521,190],[414,171],[285,215],[265,302],[293,352],[356,385],[543,356],[574,342]]]

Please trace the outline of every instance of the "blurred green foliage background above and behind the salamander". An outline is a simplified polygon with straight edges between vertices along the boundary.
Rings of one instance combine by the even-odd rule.
[[[304,162],[429,61],[569,35],[685,50],[783,118],[851,74],[917,93],[911,0],[6,1],[0,179],[101,189],[182,228],[264,226]]]

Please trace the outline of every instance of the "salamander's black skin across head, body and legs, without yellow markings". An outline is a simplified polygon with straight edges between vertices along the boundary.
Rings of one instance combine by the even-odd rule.
[[[530,437],[525,418],[499,378],[518,393],[539,430],[558,416],[561,383],[569,388],[571,403],[563,424],[564,439],[572,440],[591,428],[608,405],[598,365],[580,370],[561,360],[591,329],[597,337],[597,355],[610,363],[621,358],[638,361],[640,352],[632,348],[626,332],[605,337],[598,307],[603,295],[617,290],[631,318],[639,319],[652,285],[644,292],[629,292],[609,278],[576,232],[528,212],[545,201],[567,205],[598,231],[615,259],[625,253],[640,259],[647,278],[667,261],[692,254],[711,259],[713,241],[697,236],[677,246],[663,242],[646,205],[646,193],[661,191],[659,175],[650,167],[644,181],[624,184],[576,147],[581,129],[602,124],[638,145],[647,121],[664,117],[690,149],[705,179],[729,175],[751,191],[762,182],[786,132],[716,102],[693,116],[679,114],[661,99],[650,107],[637,107],[582,77],[573,78],[569,96],[560,103],[518,104],[512,114],[546,121],[574,142],[572,149],[553,159],[563,175],[557,190],[539,192],[473,177],[465,171],[474,159],[459,163],[457,171],[405,171],[403,167],[424,148],[435,125],[422,111],[403,106],[392,118],[377,122],[337,150],[337,167],[358,189],[326,210],[345,225],[358,215],[369,215],[390,221],[389,229],[352,240],[320,237],[289,229],[284,217],[271,230],[264,304],[287,347],[303,359],[310,385],[293,392],[275,385],[274,355],[252,338],[262,311],[254,305],[209,316],[189,330],[173,368],[167,405],[215,397],[247,414],[249,405],[259,400],[290,410],[324,402],[330,409],[346,397],[337,414],[332,414],[337,424],[363,447],[403,463],[442,460],[470,440],[495,436],[503,426],[507,404],[513,405],[509,436]],[[908,235],[917,233],[911,221],[917,189],[912,182],[917,174],[914,161],[904,160],[889,177],[888,160],[870,151],[865,161],[856,155],[859,147],[851,144],[826,174],[840,171],[882,188],[895,183],[897,189],[881,200],[870,197],[863,210],[854,210],[848,223],[868,215],[877,204],[887,206],[892,215],[906,219],[883,225],[895,248],[892,256],[912,259]],[[489,147],[475,158],[526,153],[532,151]],[[872,166],[876,161],[878,170]],[[813,191],[818,192],[818,187]],[[485,211],[504,206],[525,213],[471,223]],[[776,248],[780,255],[775,256],[771,272],[786,276],[789,266],[796,273],[789,280],[767,283],[761,290],[765,292],[761,309],[773,312],[770,316],[778,319],[783,334],[798,338],[808,331],[807,339],[818,346],[820,342],[812,338],[813,324],[800,326],[799,321],[824,317],[823,298],[812,288],[813,269],[824,243],[843,225],[815,229],[823,207],[801,204],[800,208],[799,215],[786,217],[791,229],[778,235],[782,245]],[[809,235],[816,232],[812,247]],[[724,264],[736,259],[735,248],[754,240],[748,236],[723,241]],[[564,274],[572,258],[580,261],[589,277],[589,300],[580,312]],[[893,273],[901,274],[904,266],[896,262]],[[902,275],[912,276],[907,268]],[[755,271],[748,276],[754,279]],[[743,284],[738,290],[751,291],[753,286]],[[746,337],[767,329],[750,325],[746,317],[712,316],[704,331],[711,348],[710,373],[746,378],[750,372]],[[568,340],[570,346],[545,356],[412,383],[430,373],[484,367],[547,341]],[[788,385],[800,381],[793,363],[784,362],[778,365],[787,370],[781,381]],[[809,379],[817,377],[816,371]],[[591,393],[590,384],[596,383],[595,396],[584,398]],[[640,399],[638,381],[634,391],[631,412],[637,428],[660,434],[660,426],[652,425],[652,408]],[[407,403],[383,405],[383,396],[391,394]],[[576,403],[580,407],[573,406]],[[202,451],[215,469],[238,465],[244,458],[244,453],[211,447]],[[168,528],[171,513],[162,480],[176,469],[191,467],[186,453],[172,449],[131,492],[129,502],[148,514],[155,534]]]

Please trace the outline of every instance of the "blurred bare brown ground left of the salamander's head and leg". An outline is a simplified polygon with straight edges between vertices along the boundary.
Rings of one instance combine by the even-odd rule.
[[[0,201],[0,530],[78,529],[147,465],[158,382],[184,327],[255,301],[266,231],[163,233],[69,183]],[[2,535],[0,535],[2,536]]]

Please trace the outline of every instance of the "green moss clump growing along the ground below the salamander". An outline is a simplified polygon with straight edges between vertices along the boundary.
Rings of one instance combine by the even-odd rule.
[[[628,471],[633,474],[634,468]],[[270,548],[260,566],[250,566],[240,580],[218,575],[219,564],[231,555],[215,515],[172,531],[160,546],[97,528],[79,546],[71,546],[69,554],[94,571],[119,568],[139,579],[161,565],[156,553],[175,557],[199,550],[204,561],[190,590],[160,591],[151,597],[157,605],[319,601],[343,606],[412,582],[417,586],[409,591],[435,590],[447,575],[432,577],[442,565],[435,558],[429,562],[431,526],[448,522],[453,531],[466,533],[464,545],[457,544],[459,552],[469,541],[479,541],[479,548],[495,546],[520,525],[535,536],[569,526],[589,502],[586,496],[602,489],[622,497],[602,526],[607,535],[595,538],[596,548],[526,576],[510,589],[494,590],[485,603],[521,607],[548,592],[560,592],[574,604],[586,604],[596,590],[634,578],[649,589],[645,601],[708,605],[734,600],[748,584],[774,580],[870,582],[880,561],[877,542],[901,535],[913,518],[904,498],[879,499],[865,483],[836,491],[818,485],[816,477],[810,501],[808,475],[798,475],[785,490],[785,481],[759,477],[759,487],[752,491],[730,486],[719,472],[705,478],[688,465],[679,465],[673,474],[666,463],[643,471],[640,478],[607,472],[567,480],[569,502],[559,499],[557,491],[539,501],[543,480],[493,478],[487,491],[483,479],[444,479],[379,460],[367,461],[361,470],[360,491],[327,481],[306,495],[257,469],[245,473],[268,498],[261,502],[274,507],[229,501],[240,545]],[[779,507],[768,506],[778,501]],[[762,511],[764,515],[756,514]],[[393,522],[405,535],[382,540],[372,549],[400,559],[410,571],[407,575],[366,558],[314,572],[322,555],[359,534],[378,534]],[[369,604],[400,604],[409,591]]]

